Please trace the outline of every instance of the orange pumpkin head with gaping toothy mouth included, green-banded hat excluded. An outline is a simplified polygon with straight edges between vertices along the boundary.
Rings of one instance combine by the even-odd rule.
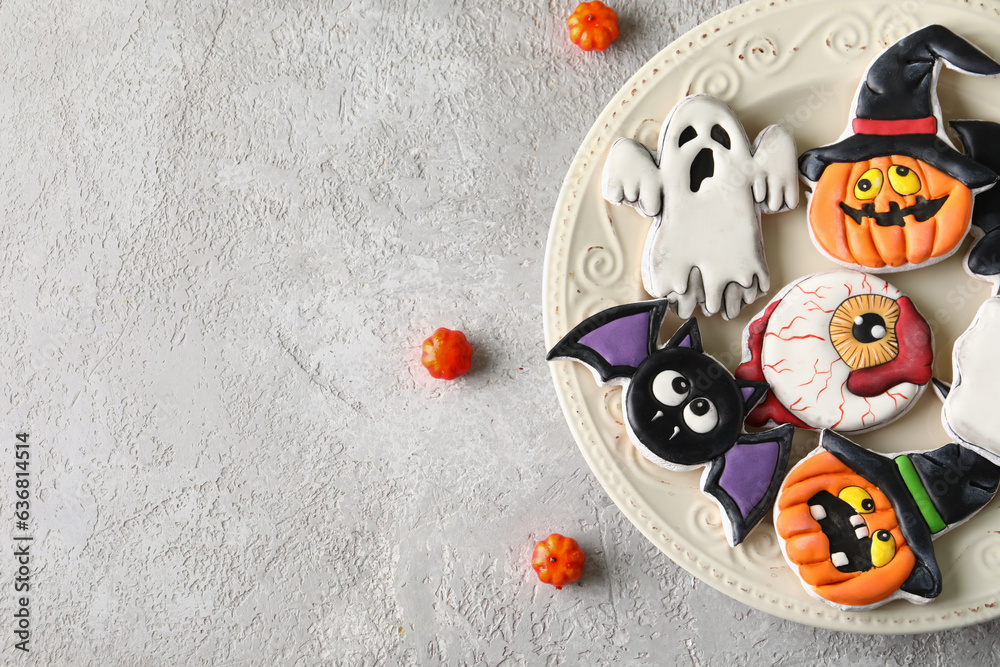
[[[889,499],[830,452],[789,474],[776,528],[803,581],[838,605],[886,599],[917,562]]]

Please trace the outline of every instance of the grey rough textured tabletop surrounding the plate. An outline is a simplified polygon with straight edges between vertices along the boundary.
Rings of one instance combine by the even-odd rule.
[[[998,623],[863,637],[729,600],[559,413],[566,167],[727,3],[619,2],[604,54],[569,44],[574,2],[60,4],[0,5],[0,437],[31,434],[35,494],[27,655],[0,559],[10,662],[1000,660]],[[476,346],[465,379],[420,367],[437,326]],[[528,566],[552,531],[589,556],[562,591]]]

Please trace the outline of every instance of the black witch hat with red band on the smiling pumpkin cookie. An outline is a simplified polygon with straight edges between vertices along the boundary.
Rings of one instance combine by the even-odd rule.
[[[802,175],[816,182],[833,162],[905,155],[972,190],[995,183],[993,171],[958,152],[945,134],[937,99],[942,63],[965,74],[1000,75],[1000,63],[944,26],[929,25],[910,33],[868,66],[844,135],[836,143],[803,153]]]

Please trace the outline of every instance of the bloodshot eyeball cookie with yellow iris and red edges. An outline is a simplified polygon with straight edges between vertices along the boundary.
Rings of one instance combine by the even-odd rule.
[[[743,334],[741,380],[771,391],[747,424],[861,433],[905,413],[931,379],[934,345],[913,302],[857,271],[786,286]]]

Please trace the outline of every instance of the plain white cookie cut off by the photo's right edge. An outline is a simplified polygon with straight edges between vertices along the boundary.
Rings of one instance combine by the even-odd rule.
[[[941,421],[956,441],[1000,463],[1000,296],[987,299],[952,353],[950,390],[939,389]]]

